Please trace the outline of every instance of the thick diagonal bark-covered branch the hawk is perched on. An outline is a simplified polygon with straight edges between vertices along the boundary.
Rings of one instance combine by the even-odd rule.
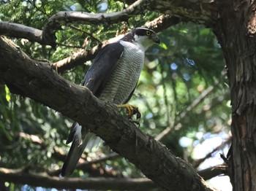
[[[0,82],[12,93],[32,98],[86,125],[165,190],[213,190],[192,165],[142,133],[121,116],[116,106],[102,103],[86,87],[68,82],[47,64],[32,61],[7,39],[0,39],[0,50]]]

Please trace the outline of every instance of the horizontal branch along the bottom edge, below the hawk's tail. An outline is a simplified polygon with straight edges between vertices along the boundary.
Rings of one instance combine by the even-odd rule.
[[[29,184],[34,187],[55,187],[56,189],[86,189],[86,190],[145,190],[156,188],[151,180],[146,178],[59,178],[46,173],[35,174],[28,169],[0,168],[0,179],[15,184]]]

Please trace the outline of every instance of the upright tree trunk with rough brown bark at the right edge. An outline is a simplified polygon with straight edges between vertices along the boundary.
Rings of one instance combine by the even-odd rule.
[[[226,1],[214,33],[227,64],[232,104],[233,190],[256,190],[256,39],[255,4]]]

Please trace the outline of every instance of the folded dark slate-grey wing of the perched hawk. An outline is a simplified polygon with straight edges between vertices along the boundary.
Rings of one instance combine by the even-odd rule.
[[[103,47],[87,71],[82,85],[88,87],[94,95],[99,95],[123,52],[124,47],[119,42]]]

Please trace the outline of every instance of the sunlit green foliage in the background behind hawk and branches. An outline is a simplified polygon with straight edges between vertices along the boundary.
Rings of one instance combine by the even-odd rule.
[[[117,12],[123,8],[123,3],[112,0],[17,0],[8,1],[0,6],[0,20],[42,29],[50,16],[62,10]],[[64,26],[63,30],[56,33],[59,43],[56,50],[23,39],[13,40],[31,57],[56,62],[76,52],[79,47],[90,49],[99,42],[115,36],[125,27],[142,26],[158,15],[156,12],[143,12],[129,19],[129,24]],[[130,104],[138,105],[140,108],[142,119],[139,122],[143,132],[157,136],[167,127],[173,127],[162,142],[180,157],[184,157],[185,150],[188,153],[187,160],[193,163],[193,146],[205,141],[206,135],[227,135],[229,131],[227,121],[230,120],[230,106],[226,79],[223,75],[223,55],[214,34],[203,26],[180,23],[162,31],[159,37],[161,44],[151,47],[146,53],[146,65]],[[72,71],[65,72],[63,76],[80,84],[87,69],[87,65],[78,66]],[[191,106],[204,90],[211,86],[214,88],[211,93],[196,106]],[[187,109],[189,111],[182,116]],[[13,95],[7,86],[1,85],[0,166],[21,168],[29,164],[34,166],[34,171],[61,168],[62,163],[56,157],[54,148],[67,151],[68,147],[64,141],[71,125],[72,122],[58,112],[29,98]],[[34,135],[37,138],[21,136],[23,134]],[[178,144],[182,137],[191,140],[187,147],[182,148]],[[102,152],[108,155],[110,151],[101,147],[100,152],[90,154],[91,160]],[[122,176],[141,176],[140,171],[121,157],[106,160],[100,166],[108,167]],[[75,175],[80,175],[80,172],[76,171]]]

